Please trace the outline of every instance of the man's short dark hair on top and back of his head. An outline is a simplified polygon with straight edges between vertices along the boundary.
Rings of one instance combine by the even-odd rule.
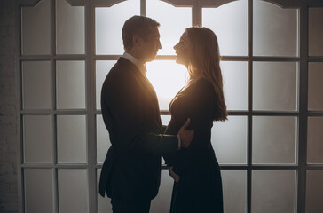
[[[145,16],[132,16],[129,20],[124,22],[122,28],[122,40],[124,50],[130,50],[133,46],[132,38],[135,35],[140,36],[145,41],[148,34],[150,33],[150,28],[158,28],[160,23]]]

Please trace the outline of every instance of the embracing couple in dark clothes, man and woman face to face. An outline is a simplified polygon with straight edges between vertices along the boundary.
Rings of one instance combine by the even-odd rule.
[[[143,16],[123,25],[125,52],[101,91],[112,146],[99,193],[111,198],[114,213],[148,213],[160,186],[163,156],[175,180],[170,212],[222,213],[221,174],[210,139],[213,121],[227,118],[217,36],[209,28],[186,28],[174,46],[176,62],[187,67],[189,79],[169,104],[169,125],[162,126],[145,67],[162,49],[159,26]]]

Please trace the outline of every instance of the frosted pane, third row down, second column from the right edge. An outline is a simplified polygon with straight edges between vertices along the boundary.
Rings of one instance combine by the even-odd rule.
[[[296,117],[253,117],[252,162],[296,162]]]

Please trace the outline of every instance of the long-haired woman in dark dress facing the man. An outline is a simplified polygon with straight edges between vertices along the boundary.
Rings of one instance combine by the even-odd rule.
[[[222,213],[221,173],[210,140],[213,122],[227,119],[217,36],[209,28],[186,28],[174,49],[189,79],[169,104],[165,134],[177,134],[191,118],[195,135],[187,149],[164,156],[175,180],[170,212]]]

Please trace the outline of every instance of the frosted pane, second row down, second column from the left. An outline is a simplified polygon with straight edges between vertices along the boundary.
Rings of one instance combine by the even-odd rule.
[[[85,108],[84,61],[57,61],[57,108]]]

